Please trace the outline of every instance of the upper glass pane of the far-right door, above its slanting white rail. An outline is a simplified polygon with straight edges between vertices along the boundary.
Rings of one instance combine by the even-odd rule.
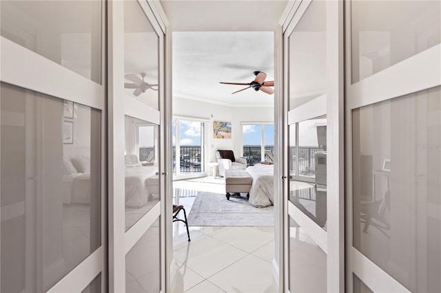
[[[351,1],[351,14],[352,83],[441,43],[440,1]]]

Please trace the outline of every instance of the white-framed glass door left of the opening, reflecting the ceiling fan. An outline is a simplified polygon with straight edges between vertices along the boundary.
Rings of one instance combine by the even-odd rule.
[[[172,206],[165,180],[172,173],[165,160],[165,25],[153,2],[109,3],[111,292],[166,291]]]

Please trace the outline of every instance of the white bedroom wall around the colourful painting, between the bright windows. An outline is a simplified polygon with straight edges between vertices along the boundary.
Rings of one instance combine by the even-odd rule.
[[[242,121],[274,121],[273,107],[232,107],[187,98],[173,99],[173,115],[209,119],[206,140],[207,162],[216,162],[218,149],[232,149],[236,156],[242,154]],[[213,116],[213,117],[212,117]],[[213,138],[213,121],[232,122],[232,139]]]

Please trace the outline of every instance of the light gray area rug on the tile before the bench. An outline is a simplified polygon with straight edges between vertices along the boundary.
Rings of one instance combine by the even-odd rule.
[[[187,217],[188,226],[274,226],[274,206],[256,208],[243,197],[199,191]]]

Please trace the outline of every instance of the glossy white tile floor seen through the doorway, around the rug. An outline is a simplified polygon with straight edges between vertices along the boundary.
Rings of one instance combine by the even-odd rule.
[[[225,192],[222,180],[207,181],[176,181],[174,188],[182,195]],[[178,197],[176,202],[188,215],[194,199]],[[276,292],[274,228],[190,227],[190,237],[188,242],[185,224],[174,223],[172,292]]]

